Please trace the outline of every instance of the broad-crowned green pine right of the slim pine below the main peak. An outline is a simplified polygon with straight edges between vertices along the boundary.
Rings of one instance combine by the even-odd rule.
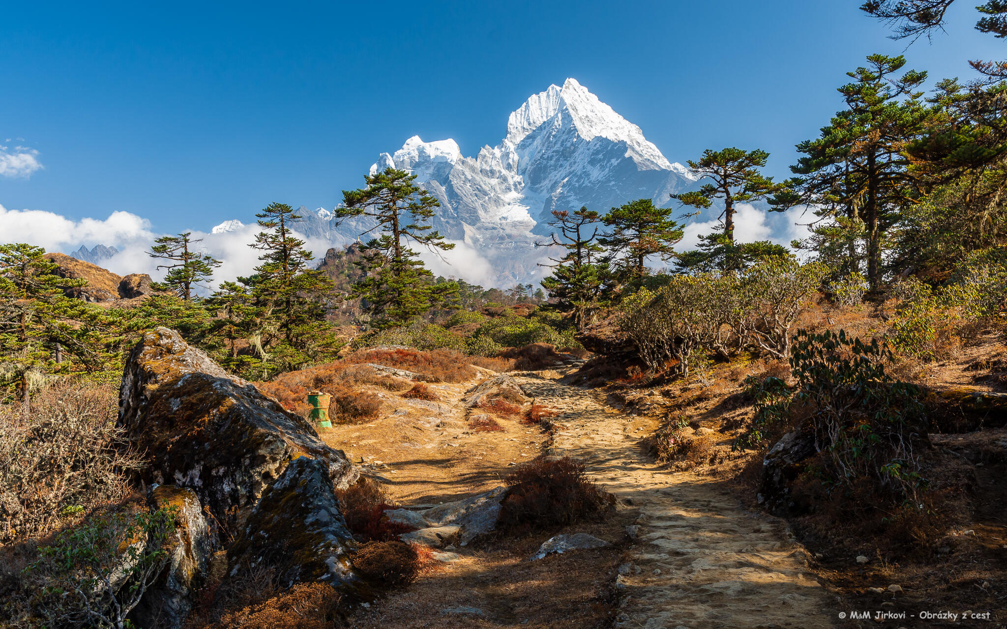
[[[684,231],[671,213],[670,208],[641,198],[613,207],[601,217],[610,230],[598,244],[608,250],[619,283],[638,284],[652,257],[665,262],[675,258],[675,244]]]

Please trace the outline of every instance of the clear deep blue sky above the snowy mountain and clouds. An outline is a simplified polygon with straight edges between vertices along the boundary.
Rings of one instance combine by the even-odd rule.
[[[975,3],[908,49],[859,0],[210,4],[7,3],[0,145],[42,168],[0,176],[0,205],[157,232],[331,207],[380,152],[418,134],[473,155],[567,76],[672,161],[763,148],[786,176],[866,54],[931,78],[1007,56]]]

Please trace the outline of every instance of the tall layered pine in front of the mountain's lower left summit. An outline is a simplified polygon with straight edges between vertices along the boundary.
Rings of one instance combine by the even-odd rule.
[[[335,217],[370,216],[381,235],[364,246],[362,266],[368,277],[353,285],[353,295],[365,300],[372,325],[379,329],[416,319],[457,292],[454,283],[436,284],[408,245],[412,241],[439,254],[454,249],[428,221],[440,203],[417,186],[416,175],[389,167],[364,177],[365,187],[343,190],[343,206]],[[374,229],[371,229],[372,231]],[[363,235],[363,234],[361,234]]]

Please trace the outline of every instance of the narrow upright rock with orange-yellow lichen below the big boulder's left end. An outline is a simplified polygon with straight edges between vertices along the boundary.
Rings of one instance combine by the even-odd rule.
[[[168,566],[144,593],[131,618],[141,627],[179,629],[206,578],[212,539],[199,498],[191,489],[161,485],[151,492],[150,501],[155,509],[177,509],[175,538],[169,542]]]

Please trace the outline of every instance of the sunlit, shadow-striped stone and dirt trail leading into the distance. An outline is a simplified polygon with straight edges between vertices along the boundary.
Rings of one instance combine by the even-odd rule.
[[[835,598],[785,522],[744,510],[710,480],[655,465],[638,447],[638,423],[599,395],[532,374],[518,380],[560,411],[553,454],[585,459],[595,482],[639,510],[617,578],[616,627],[835,626]]]

